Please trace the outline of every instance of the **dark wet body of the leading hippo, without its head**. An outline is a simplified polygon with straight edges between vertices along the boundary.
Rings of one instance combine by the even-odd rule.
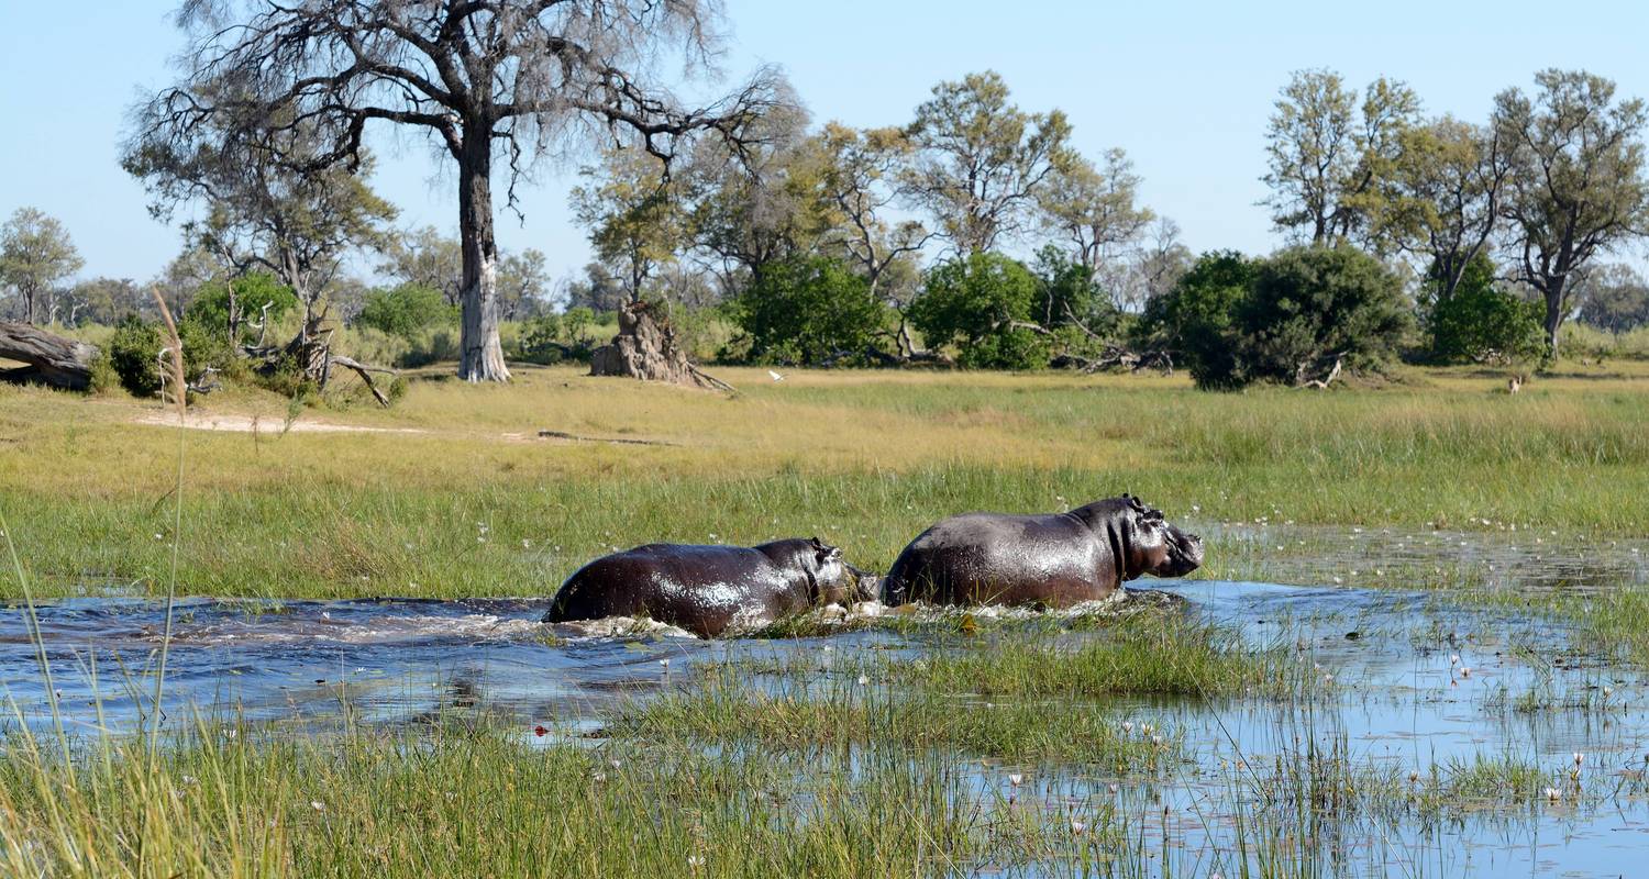
[[[1067,513],[966,513],[905,546],[887,572],[889,604],[1075,604],[1110,589],[1110,548]]]

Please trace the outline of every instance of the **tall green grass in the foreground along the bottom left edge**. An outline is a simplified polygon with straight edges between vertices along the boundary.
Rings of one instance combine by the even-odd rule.
[[[1014,810],[938,754],[622,740],[528,747],[500,726],[106,742],[0,764],[0,872],[241,876],[948,876],[1082,863],[1106,811]]]

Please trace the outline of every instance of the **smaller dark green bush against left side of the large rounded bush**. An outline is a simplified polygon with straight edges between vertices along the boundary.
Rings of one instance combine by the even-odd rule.
[[[1202,254],[1167,294],[1146,302],[1135,343],[1167,351],[1191,371],[1197,388],[1242,384],[1237,315],[1258,269],[1260,261],[1237,251]]]

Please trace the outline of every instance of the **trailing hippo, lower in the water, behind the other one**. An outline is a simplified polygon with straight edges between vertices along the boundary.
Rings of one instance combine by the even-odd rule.
[[[871,600],[871,582],[818,538],[760,546],[650,543],[580,567],[561,584],[544,622],[646,617],[714,638],[813,605]]]

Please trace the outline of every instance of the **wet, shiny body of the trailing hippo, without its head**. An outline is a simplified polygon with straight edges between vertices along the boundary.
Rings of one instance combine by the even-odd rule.
[[[783,579],[772,559],[744,546],[637,546],[567,577],[544,622],[648,617],[716,635],[752,599],[782,589]]]

